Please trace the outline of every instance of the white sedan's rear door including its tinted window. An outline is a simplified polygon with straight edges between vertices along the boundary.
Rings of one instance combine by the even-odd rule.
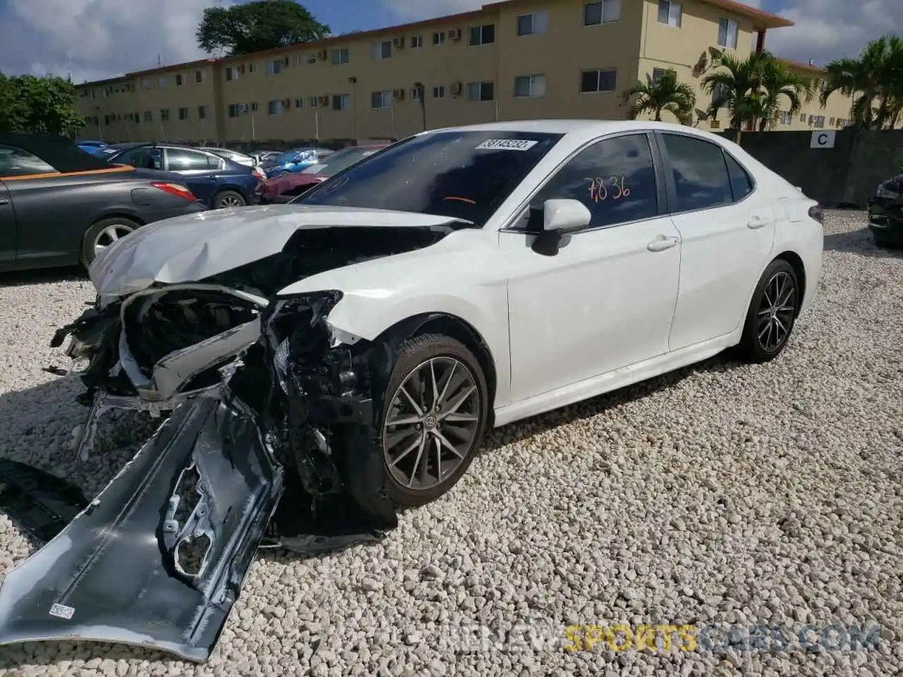
[[[771,255],[777,212],[720,145],[687,134],[659,139],[682,242],[669,340],[669,348],[678,350],[740,327]]]

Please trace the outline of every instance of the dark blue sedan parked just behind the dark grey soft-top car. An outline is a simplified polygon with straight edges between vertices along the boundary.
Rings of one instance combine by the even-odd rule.
[[[264,175],[214,153],[174,144],[141,144],[107,158],[111,164],[181,174],[194,197],[212,209],[256,204]]]

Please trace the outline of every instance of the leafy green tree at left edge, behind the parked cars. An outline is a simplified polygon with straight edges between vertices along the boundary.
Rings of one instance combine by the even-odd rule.
[[[85,118],[75,112],[69,79],[0,74],[0,130],[31,134],[75,134]]]

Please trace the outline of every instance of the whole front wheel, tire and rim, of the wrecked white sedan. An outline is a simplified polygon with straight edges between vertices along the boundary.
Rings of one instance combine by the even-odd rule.
[[[435,412],[432,383],[426,381],[420,390],[417,376],[430,378],[433,369],[436,390],[444,397],[440,400],[440,412]],[[416,375],[416,376],[414,376]],[[446,377],[449,380],[446,380]],[[421,408],[417,415],[414,405],[402,392],[410,394]],[[443,393],[443,387],[449,386]],[[451,409],[455,401],[466,394],[460,405]],[[423,395],[423,399],[421,398]],[[442,405],[447,408],[442,412]],[[432,411],[426,411],[432,407]],[[444,419],[442,414],[455,420]],[[424,505],[434,501],[451,489],[470,466],[479,450],[489,415],[489,388],[479,361],[460,341],[441,334],[424,334],[409,338],[396,349],[395,366],[386,384],[383,410],[379,418],[379,430],[386,470],[386,494],[396,505]],[[461,420],[473,416],[472,421]],[[412,419],[419,418],[419,423]],[[405,421],[393,424],[392,421]],[[457,432],[456,432],[457,431]],[[467,434],[461,434],[467,431]],[[444,442],[456,446],[452,453]],[[418,443],[419,441],[419,443]],[[441,447],[440,462],[436,462],[436,442]],[[426,451],[430,453],[426,453]],[[419,456],[419,463],[417,455]],[[397,461],[397,462],[394,462]],[[437,466],[442,468],[436,472]],[[444,467],[443,467],[444,466]],[[414,473],[414,468],[418,472]],[[421,485],[420,470],[425,468],[427,481]],[[414,476],[412,478],[412,475]],[[408,487],[408,483],[413,484]]]

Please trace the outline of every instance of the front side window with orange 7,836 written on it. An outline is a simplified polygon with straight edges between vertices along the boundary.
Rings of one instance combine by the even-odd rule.
[[[646,134],[604,139],[575,155],[531,201],[578,199],[590,210],[591,228],[658,216],[656,170]]]

